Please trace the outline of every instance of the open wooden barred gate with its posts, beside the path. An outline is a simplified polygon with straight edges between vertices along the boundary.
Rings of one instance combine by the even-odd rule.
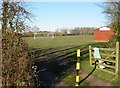
[[[89,46],[90,66],[94,67],[96,60],[101,60],[103,63],[97,62],[97,69],[118,76],[118,61],[119,61],[119,42],[116,42],[116,48],[99,48],[101,58],[94,58],[94,48]],[[104,66],[105,69],[99,66]]]

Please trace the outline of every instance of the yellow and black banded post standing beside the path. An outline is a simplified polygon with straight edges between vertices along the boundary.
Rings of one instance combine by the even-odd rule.
[[[77,63],[76,63],[76,85],[79,86],[80,82],[80,76],[79,76],[79,71],[80,71],[80,49],[77,50]]]

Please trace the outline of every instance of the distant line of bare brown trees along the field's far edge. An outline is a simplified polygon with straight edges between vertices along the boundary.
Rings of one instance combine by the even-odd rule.
[[[37,29],[40,29],[37,27]],[[68,28],[61,28],[56,29],[54,33],[55,36],[75,36],[75,35],[93,35],[94,34],[95,27],[75,27],[72,29]],[[22,33],[23,37],[33,37],[34,33],[43,33],[39,36],[46,36],[46,33],[51,33],[52,31],[39,31],[34,30],[34,27],[32,29],[29,29],[28,31]],[[45,33],[45,34],[44,34]]]

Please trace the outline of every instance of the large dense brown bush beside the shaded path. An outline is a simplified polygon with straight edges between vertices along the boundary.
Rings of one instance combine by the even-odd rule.
[[[28,45],[19,34],[7,33],[2,39],[3,86],[31,86],[31,60]]]

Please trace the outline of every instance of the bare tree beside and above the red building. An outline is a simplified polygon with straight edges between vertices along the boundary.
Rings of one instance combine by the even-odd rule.
[[[115,32],[115,36],[112,37],[112,41],[120,42],[120,1],[118,0],[108,0],[102,6],[108,18],[109,24],[112,26]]]

